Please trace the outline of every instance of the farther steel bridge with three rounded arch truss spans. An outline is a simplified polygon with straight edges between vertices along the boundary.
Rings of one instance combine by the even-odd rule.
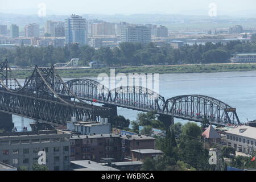
[[[203,122],[205,118],[213,125],[237,126],[240,120],[236,108],[201,95],[185,95],[167,100],[152,90],[139,86],[121,86],[109,90],[90,79],[75,79],[65,83],[81,100],[96,101],[105,105],[124,107],[139,111],[157,111],[159,115]]]

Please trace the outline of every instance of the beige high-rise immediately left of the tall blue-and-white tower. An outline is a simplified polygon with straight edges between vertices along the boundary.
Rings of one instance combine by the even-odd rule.
[[[59,21],[47,21],[46,22],[46,33],[51,34],[52,37],[65,36],[64,22]]]

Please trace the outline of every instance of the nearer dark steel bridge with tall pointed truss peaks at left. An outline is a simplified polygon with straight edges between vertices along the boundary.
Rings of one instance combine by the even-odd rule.
[[[35,67],[21,86],[7,60],[0,62],[0,111],[57,126],[71,121],[72,117],[89,121],[110,114],[107,107],[93,106],[77,98],[53,66]]]

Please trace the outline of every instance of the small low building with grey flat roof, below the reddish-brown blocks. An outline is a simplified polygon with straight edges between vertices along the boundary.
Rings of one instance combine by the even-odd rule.
[[[143,149],[143,150],[131,150],[133,155],[133,161],[143,161],[146,158],[154,159],[159,155],[163,155],[164,152],[154,149]]]

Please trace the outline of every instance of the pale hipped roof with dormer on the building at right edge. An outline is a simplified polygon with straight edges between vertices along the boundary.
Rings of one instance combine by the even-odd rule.
[[[244,126],[236,127],[235,129],[226,131],[226,134],[234,134],[234,135],[240,135],[242,137],[256,139],[256,127],[244,125]]]

